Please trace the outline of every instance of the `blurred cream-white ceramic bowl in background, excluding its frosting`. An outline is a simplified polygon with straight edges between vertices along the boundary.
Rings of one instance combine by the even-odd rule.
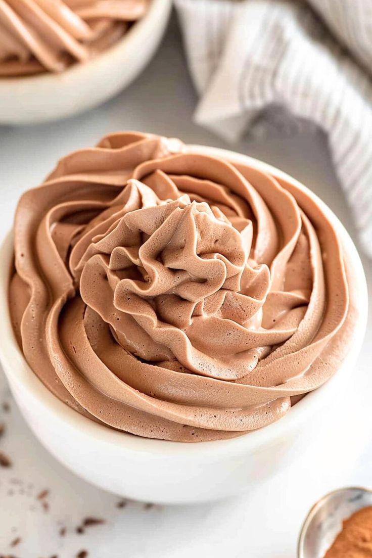
[[[172,0],[152,0],[123,39],[89,62],[61,74],[0,79],[0,124],[66,118],[114,97],[141,73],[164,34]]]

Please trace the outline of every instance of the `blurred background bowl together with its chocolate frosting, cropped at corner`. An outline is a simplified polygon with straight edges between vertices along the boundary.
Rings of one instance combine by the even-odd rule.
[[[73,116],[143,70],[171,0],[1,0],[0,124]]]

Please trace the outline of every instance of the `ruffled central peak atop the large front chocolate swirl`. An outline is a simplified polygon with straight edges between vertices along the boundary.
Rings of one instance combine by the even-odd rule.
[[[133,209],[139,193],[143,206]],[[90,241],[76,269],[83,269],[85,304],[136,357],[215,378],[244,376],[257,363],[260,334],[252,342],[249,331],[269,289],[267,266],[248,263],[252,223],[241,220],[239,232],[217,207],[188,195],[161,201],[136,180],[123,196],[128,201],[108,231],[90,232],[71,253],[76,260]],[[265,343],[291,333],[276,331]]]

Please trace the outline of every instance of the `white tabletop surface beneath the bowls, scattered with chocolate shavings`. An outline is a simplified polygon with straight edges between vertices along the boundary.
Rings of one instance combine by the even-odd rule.
[[[192,124],[195,103],[173,19],[147,71],[108,104],[65,122],[0,128],[1,236],[11,226],[18,196],[37,185],[58,157],[93,145],[110,131],[139,129],[180,136],[189,143],[233,148],[281,167],[315,190],[355,239],[320,133],[310,129],[273,132],[265,140],[246,138],[231,147]],[[372,290],[372,265],[365,259],[364,263]],[[294,558],[299,527],[317,497],[339,485],[372,487],[371,331],[370,320],[350,392],[352,405],[345,408],[352,428],[348,445],[302,456],[301,462],[253,494],[203,506],[150,507],[129,502],[118,508],[117,497],[79,480],[46,453],[12,402],[0,371],[0,422],[6,423],[0,451],[13,461],[11,468],[0,468],[0,555],[69,558],[85,549],[92,558]],[[3,401],[10,403],[9,412],[2,410]],[[332,467],[327,461],[331,457]],[[22,484],[15,484],[18,480]],[[45,498],[48,510],[37,499],[43,489],[50,490]],[[87,516],[104,518],[105,524],[76,533]],[[64,537],[59,535],[61,527],[66,528]],[[9,546],[18,536],[21,542]]]

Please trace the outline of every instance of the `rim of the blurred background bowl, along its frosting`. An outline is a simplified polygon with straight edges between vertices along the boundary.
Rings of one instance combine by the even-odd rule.
[[[153,26],[154,22],[159,20],[158,18],[158,11],[165,10],[166,8],[171,7],[172,0],[151,0],[149,7],[147,8],[146,13],[140,19],[134,22],[134,24],[129,28],[127,32],[124,33],[123,37],[121,37],[115,44],[110,46],[108,49],[103,50],[97,56],[94,56],[91,60],[86,62],[75,62],[75,64],[71,64],[68,68],[61,71],[60,73],[54,73],[50,71],[42,72],[40,74],[30,74],[24,76],[7,76],[4,78],[0,78],[0,89],[5,88],[5,86],[11,85],[12,87],[16,86],[17,84],[36,84],[37,86],[47,86],[47,85],[55,85],[56,79],[74,79],[75,74],[80,74],[81,70],[84,70],[85,73],[89,73],[93,70],[93,67],[96,63],[104,64],[106,60],[115,56],[117,52],[123,51],[131,46],[132,43],[136,43],[140,36],[143,34],[145,36],[148,35],[148,31]],[[161,23],[162,20],[159,21]]]

